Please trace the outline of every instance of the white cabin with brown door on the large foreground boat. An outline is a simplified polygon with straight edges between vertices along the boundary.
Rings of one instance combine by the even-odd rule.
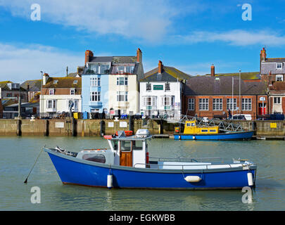
[[[104,136],[110,149],[82,150],[77,158],[124,167],[146,168],[148,164],[148,146],[151,139],[147,129],[139,129],[136,135],[126,136],[118,131],[118,136]]]

